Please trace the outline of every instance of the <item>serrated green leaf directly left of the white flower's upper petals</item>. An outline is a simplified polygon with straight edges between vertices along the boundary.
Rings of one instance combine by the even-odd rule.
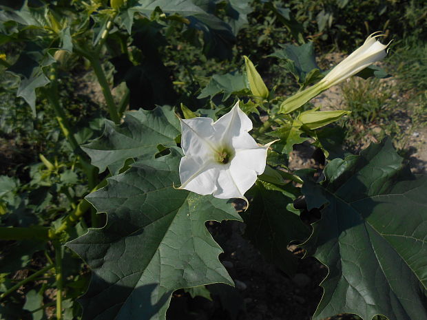
[[[100,172],[109,167],[112,173],[118,173],[127,158],[154,158],[157,145],[175,146],[179,134],[179,120],[171,107],[139,109],[127,112],[121,125],[107,120],[103,135],[81,148]]]

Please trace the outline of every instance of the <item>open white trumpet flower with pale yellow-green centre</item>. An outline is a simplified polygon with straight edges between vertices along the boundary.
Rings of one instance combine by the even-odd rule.
[[[213,122],[198,117],[180,120],[183,131],[178,189],[216,198],[240,198],[264,172],[267,149],[259,147],[248,133],[252,129],[249,117],[240,109],[233,109]]]

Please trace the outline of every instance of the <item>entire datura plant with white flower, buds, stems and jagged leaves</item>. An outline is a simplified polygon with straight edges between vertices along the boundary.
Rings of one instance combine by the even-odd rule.
[[[1,42],[23,41],[16,60],[0,63],[17,77],[17,96],[34,114],[37,101],[48,101],[55,132],[66,139],[59,145],[66,142],[63,153],[70,155],[67,164],[39,155],[30,184],[21,189],[16,179],[0,177],[0,239],[25,250],[1,253],[8,262],[0,266],[1,319],[30,319],[28,312],[42,319],[43,309],[54,308],[59,320],[165,320],[173,297],[220,295],[228,303],[232,295],[224,288],[231,290],[234,280],[206,224],[223,220],[244,223],[233,232],[243,232],[288,276],[300,263],[289,244],[329,269],[314,320],[345,312],[364,320],[427,319],[427,177],[413,175],[388,139],[359,155],[345,153],[340,127],[331,125],[351,110],[308,103],[384,58],[380,35],[369,36],[326,76],[315,64],[313,43],[282,46],[272,56],[301,86],[289,97],[277,95],[277,86],[268,87],[242,56],[241,70],[204,78],[197,91],[188,85],[189,99],[178,100],[173,86],[186,84],[172,83],[159,58],[176,46],[158,50],[167,43],[159,35],[187,36],[201,46],[196,56],[229,58],[253,10],[249,4],[56,2],[57,8],[32,8],[25,1],[21,10],[0,12]],[[277,21],[298,27],[290,10],[259,2],[280,15]],[[212,12],[221,12],[221,19]],[[302,39],[298,30],[291,33]],[[106,119],[87,121],[81,131],[67,116],[67,94],[59,94],[73,61],[93,70],[106,105]],[[105,68],[114,70],[107,76]],[[121,85],[119,96],[112,94],[110,76]],[[96,124],[104,127],[101,136]],[[293,146],[303,142],[324,156],[316,170],[288,167]],[[32,189],[35,184],[41,189]]]

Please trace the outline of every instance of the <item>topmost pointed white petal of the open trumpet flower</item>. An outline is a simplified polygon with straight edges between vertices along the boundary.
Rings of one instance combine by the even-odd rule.
[[[216,140],[231,145],[231,140],[234,137],[242,136],[242,134],[247,134],[248,131],[252,130],[252,121],[240,109],[237,102],[228,114],[213,123],[213,128],[216,132]],[[249,134],[247,135],[249,136]]]

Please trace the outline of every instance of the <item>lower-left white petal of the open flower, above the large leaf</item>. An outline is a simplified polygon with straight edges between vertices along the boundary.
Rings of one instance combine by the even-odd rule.
[[[200,164],[198,159],[183,157],[179,166],[181,186],[178,189],[193,191],[199,195],[210,195],[217,189],[220,164],[205,162]]]

